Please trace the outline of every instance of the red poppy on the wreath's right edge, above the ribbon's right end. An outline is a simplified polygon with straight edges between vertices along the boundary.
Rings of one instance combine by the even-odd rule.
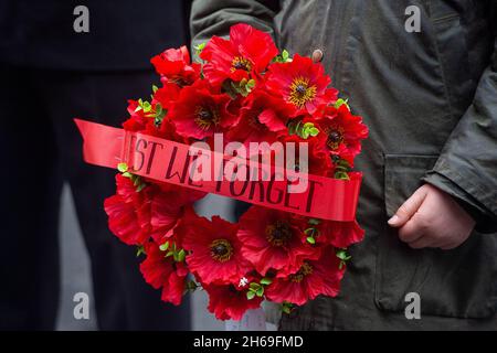
[[[322,118],[318,119],[319,129],[327,137],[326,149],[350,163],[361,151],[361,140],[368,137],[368,127],[362,118],[350,113],[346,105],[338,109],[327,107]]]

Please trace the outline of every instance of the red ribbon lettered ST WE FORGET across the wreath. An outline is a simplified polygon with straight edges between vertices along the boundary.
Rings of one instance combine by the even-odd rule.
[[[289,193],[289,182],[286,180],[194,181],[190,178],[193,159],[189,156],[188,145],[80,119],[75,119],[75,122],[84,140],[84,160],[89,164],[116,168],[126,162],[134,174],[157,182],[320,220],[351,222],[356,218],[361,173],[350,173],[350,181],[308,174],[308,184],[303,193]],[[213,161],[213,171],[220,165],[219,161],[228,159],[225,156],[219,158],[216,152],[207,153],[210,153],[210,160]]]

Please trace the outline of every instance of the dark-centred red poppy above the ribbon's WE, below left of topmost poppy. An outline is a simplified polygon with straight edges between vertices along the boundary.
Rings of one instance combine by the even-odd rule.
[[[181,90],[171,120],[179,135],[201,140],[236,124],[237,116],[229,111],[230,101],[230,96],[212,93],[200,81]]]

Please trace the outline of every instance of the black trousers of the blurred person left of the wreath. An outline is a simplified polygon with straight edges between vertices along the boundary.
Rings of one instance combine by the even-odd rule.
[[[0,65],[0,329],[53,330],[60,300],[61,189],[72,189],[92,261],[102,330],[189,330],[189,302],[160,301],[135,249],[109,233],[115,171],[87,165],[74,117],[118,127],[151,72],[81,73]],[[63,236],[63,235],[62,235]]]

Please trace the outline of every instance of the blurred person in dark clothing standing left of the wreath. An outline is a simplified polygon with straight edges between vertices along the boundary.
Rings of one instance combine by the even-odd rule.
[[[73,25],[88,10],[89,32]],[[101,330],[188,330],[188,300],[160,301],[135,252],[110,234],[115,172],[82,160],[74,117],[119,127],[127,99],[158,79],[149,62],[188,41],[189,1],[0,0],[0,329],[53,330],[60,302],[59,211],[72,194]],[[77,24],[77,23],[76,23]],[[156,82],[157,83],[157,82]],[[62,235],[63,236],[63,235]]]

